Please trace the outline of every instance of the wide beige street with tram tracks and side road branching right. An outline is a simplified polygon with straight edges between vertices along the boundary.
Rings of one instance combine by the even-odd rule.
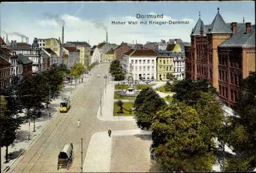
[[[83,139],[83,159],[86,156],[90,138],[94,133],[105,131],[109,127],[114,130],[134,129],[134,121],[100,121],[97,112],[100,104],[100,88],[104,94],[105,80],[109,64],[99,64],[93,78],[83,83],[71,99],[71,109],[62,113],[48,124],[41,134],[33,141],[26,152],[11,167],[12,172],[66,172],[57,170],[58,154],[65,144],[73,143],[74,159],[69,171],[81,171],[81,138]],[[102,74],[97,78],[97,74]],[[108,92],[108,91],[106,91]],[[80,119],[81,126],[77,127]],[[106,133],[106,135],[108,135]],[[84,161],[84,160],[83,160]],[[16,164],[16,165],[15,165]],[[82,163],[83,164],[83,163]]]

